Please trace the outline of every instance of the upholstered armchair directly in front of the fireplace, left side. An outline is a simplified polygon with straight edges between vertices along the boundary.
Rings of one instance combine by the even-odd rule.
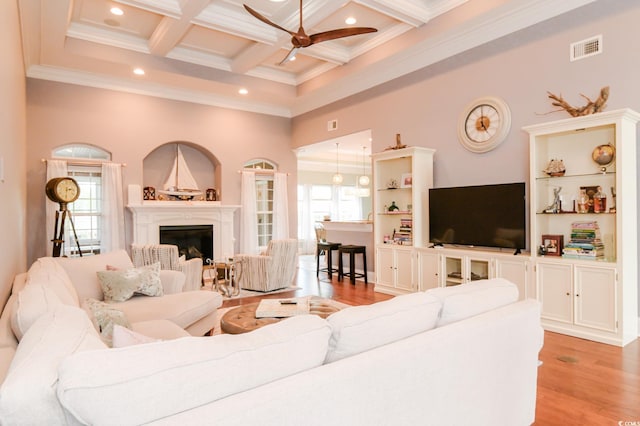
[[[185,260],[180,257],[176,245],[132,244],[131,260],[136,267],[160,262],[160,269],[182,271],[186,277],[183,291],[200,290],[202,287],[202,259]]]

